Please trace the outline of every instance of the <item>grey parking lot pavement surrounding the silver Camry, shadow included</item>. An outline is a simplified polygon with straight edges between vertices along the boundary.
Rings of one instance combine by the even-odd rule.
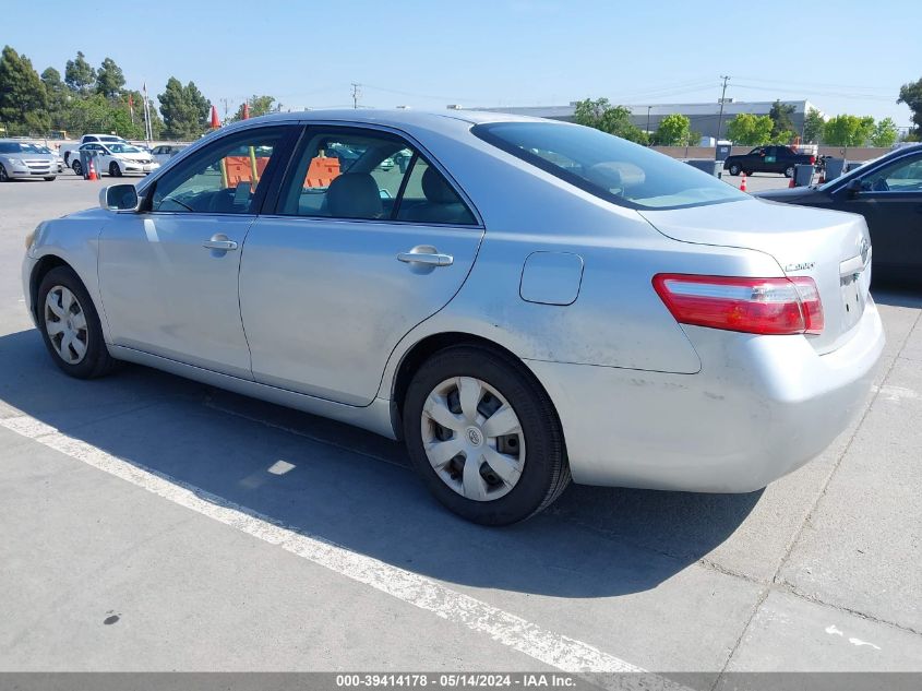
[[[0,184],[0,670],[922,671],[922,294],[875,294],[862,416],[766,489],[573,486],[482,528],[395,442],[58,371],[23,238],[99,188]]]

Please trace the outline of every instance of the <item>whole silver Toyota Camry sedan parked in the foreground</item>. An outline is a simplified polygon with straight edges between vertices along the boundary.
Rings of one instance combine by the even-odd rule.
[[[279,114],[100,205],[27,241],[63,371],[127,360],[403,438],[483,524],[571,477],[764,487],[847,427],[884,347],[863,218],[562,122]]]

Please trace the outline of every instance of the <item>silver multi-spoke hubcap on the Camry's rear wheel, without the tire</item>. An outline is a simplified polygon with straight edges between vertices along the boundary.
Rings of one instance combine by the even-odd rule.
[[[422,406],[422,443],[439,478],[462,497],[507,495],[525,467],[525,436],[508,401],[474,377],[435,386]]]

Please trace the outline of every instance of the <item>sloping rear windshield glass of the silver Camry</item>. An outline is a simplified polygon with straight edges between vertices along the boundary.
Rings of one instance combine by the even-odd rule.
[[[493,122],[472,132],[562,180],[631,209],[682,209],[749,199],[692,166],[577,124]]]

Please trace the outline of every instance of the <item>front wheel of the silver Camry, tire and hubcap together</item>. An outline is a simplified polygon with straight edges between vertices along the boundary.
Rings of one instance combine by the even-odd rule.
[[[38,286],[38,329],[55,364],[76,379],[94,379],[117,366],[106,347],[99,314],[69,266],[49,271]]]

